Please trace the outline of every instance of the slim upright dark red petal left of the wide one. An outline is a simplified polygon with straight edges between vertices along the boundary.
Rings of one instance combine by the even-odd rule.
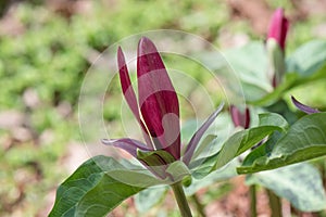
[[[118,75],[120,75],[121,87],[122,87],[124,97],[125,97],[131,112],[134,113],[137,122],[141,126],[146,143],[150,148],[153,148],[153,144],[152,144],[150,138],[148,137],[148,131],[145,127],[145,124],[140,119],[139,107],[138,107],[138,104],[137,104],[137,98],[136,98],[135,90],[134,90],[131,81],[130,81],[130,77],[129,77],[127,65],[126,65],[125,56],[124,56],[124,53],[123,53],[121,47],[118,47],[118,49],[117,49],[117,66],[118,66]]]

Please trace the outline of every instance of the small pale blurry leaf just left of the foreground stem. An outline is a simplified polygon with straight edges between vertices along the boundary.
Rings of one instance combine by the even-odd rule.
[[[167,186],[158,186],[145,189],[135,195],[135,205],[138,212],[146,213],[161,202],[167,192]]]

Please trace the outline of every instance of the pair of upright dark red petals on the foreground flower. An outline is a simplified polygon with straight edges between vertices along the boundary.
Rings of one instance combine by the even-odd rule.
[[[147,133],[148,146],[165,150],[175,159],[180,158],[179,103],[154,43],[142,37],[138,44],[138,101],[121,48],[117,50],[117,63],[124,97]]]

